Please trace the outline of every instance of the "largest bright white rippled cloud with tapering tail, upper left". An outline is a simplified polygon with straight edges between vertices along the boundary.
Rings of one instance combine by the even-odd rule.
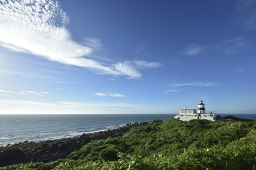
[[[85,67],[97,74],[142,74],[126,64],[107,64],[92,60],[93,50],[102,47],[100,39],[85,38],[83,45],[72,40],[65,26],[68,16],[54,0],[0,0],[0,46],[16,52],[38,55],[53,62]],[[125,66],[124,66],[125,65]],[[152,67],[147,67],[152,68]]]

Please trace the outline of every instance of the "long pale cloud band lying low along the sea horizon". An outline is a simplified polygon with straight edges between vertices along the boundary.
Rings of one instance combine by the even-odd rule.
[[[102,114],[102,113],[157,113],[169,110],[157,106],[134,105],[131,103],[82,103],[72,101],[57,101],[53,103],[40,101],[0,100],[0,114]]]

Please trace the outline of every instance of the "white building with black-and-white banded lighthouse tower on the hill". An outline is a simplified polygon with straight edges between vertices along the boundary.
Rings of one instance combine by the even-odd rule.
[[[183,120],[183,121],[189,121],[192,119],[206,119],[206,120],[216,120],[216,115],[215,113],[206,113],[206,109],[204,107],[203,101],[200,101],[198,104],[198,111],[196,112],[196,109],[181,109],[179,111],[179,115],[176,115],[174,118],[178,120]]]

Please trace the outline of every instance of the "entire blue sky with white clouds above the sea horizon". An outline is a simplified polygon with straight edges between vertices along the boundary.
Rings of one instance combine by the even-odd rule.
[[[256,2],[0,0],[0,113],[256,113]]]

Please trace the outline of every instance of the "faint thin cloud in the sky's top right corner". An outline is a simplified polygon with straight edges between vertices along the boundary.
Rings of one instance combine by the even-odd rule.
[[[242,23],[245,30],[256,28],[256,1],[254,0],[236,0],[235,10],[239,13],[238,21]]]

